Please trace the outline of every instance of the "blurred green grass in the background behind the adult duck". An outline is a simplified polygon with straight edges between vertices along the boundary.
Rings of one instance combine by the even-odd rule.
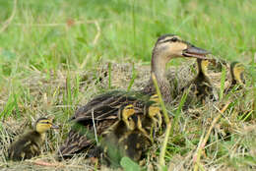
[[[1,27],[13,7],[12,0],[0,1]],[[0,75],[28,66],[79,67],[85,60],[90,67],[98,58],[150,61],[162,33],[249,63],[256,50],[255,14],[255,0],[19,0],[0,33]]]

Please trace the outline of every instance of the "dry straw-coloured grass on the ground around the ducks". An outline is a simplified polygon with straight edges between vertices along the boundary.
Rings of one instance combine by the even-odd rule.
[[[113,64],[111,68],[111,87],[115,86],[126,89],[133,77],[134,70],[137,73],[132,89],[139,89],[148,80],[145,74],[149,73],[149,67],[141,67],[141,64]],[[106,90],[109,85],[109,64],[98,63],[98,67],[88,72],[79,71],[58,71],[55,73],[42,73],[31,70],[31,77],[20,80],[20,85],[28,87],[30,92],[30,102],[26,101],[19,104],[21,109],[20,116],[16,113],[15,118],[6,118],[1,129],[1,158],[0,167],[6,170],[93,170],[95,165],[83,156],[75,156],[66,161],[58,162],[55,159],[55,151],[67,136],[70,129],[68,118],[80,105],[85,104],[96,93]],[[180,67],[170,68],[174,79],[182,81],[182,85],[188,82],[189,77],[193,77],[194,63],[189,61]],[[173,72],[176,71],[175,75]],[[211,72],[211,71],[210,71]],[[185,77],[185,79],[184,79]],[[119,80],[118,78],[126,78]],[[140,79],[138,79],[140,78]],[[146,78],[146,79],[144,79]],[[174,129],[173,136],[167,143],[165,162],[170,170],[193,170],[197,163],[194,159],[197,149],[205,133],[209,130],[216,117],[221,116],[220,121],[213,127],[209,139],[201,147],[202,154],[200,160],[200,170],[229,169],[244,170],[255,169],[255,148],[256,131],[255,118],[252,115],[253,96],[249,93],[252,90],[250,78],[247,76],[247,86],[241,90],[234,90],[224,96],[219,101],[206,101],[205,105],[195,103],[189,108],[181,110],[178,125]],[[173,80],[174,80],[173,79]],[[174,85],[173,85],[174,86]],[[175,85],[175,89],[178,89]],[[79,93],[78,93],[79,92]],[[26,91],[25,91],[26,93]],[[75,101],[70,99],[77,95]],[[77,93],[77,94],[76,94]],[[25,95],[25,94],[24,94]],[[26,96],[25,96],[26,97]],[[7,96],[1,96],[2,101],[7,101]],[[65,101],[72,101],[73,105],[65,105]],[[178,107],[180,96],[173,100],[170,108],[171,113],[175,113]],[[221,109],[229,101],[228,107],[220,115]],[[1,105],[4,108],[4,105]],[[17,112],[13,110],[12,112]],[[13,113],[14,115],[14,113]],[[28,129],[32,128],[32,123],[39,116],[55,116],[55,123],[60,125],[60,130],[50,132],[43,147],[43,155],[23,161],[22,163],[11,162],[5,159],[8,145],[15,137]],[[157,166],[159,146],[163,137],[154,144],[149,152],[146,163]],[[50,152],[50,153],[49,153]],[[93,162],[94,163],[94,162]],[[198,163],[197,163],[198,164]],[[106,169],[101,166],[101,169]]]

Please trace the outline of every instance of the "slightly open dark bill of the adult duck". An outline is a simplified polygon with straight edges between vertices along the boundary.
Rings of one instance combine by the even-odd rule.
[[[190,58],[209,59],[206,57],[206,55],[210,54],[210,52],[191,45],[191,46],[188,46],[187,49],[183,50],[182,54],[183,56],[190,57]]]

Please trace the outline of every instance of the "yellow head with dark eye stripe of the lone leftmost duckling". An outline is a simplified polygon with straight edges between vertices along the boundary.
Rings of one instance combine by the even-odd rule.
[[[49,129],[57,129],[58,127],[52,124],[52,120],[48,118],[39,118],[35,122],[35,131],[39,134],[43,134]]]

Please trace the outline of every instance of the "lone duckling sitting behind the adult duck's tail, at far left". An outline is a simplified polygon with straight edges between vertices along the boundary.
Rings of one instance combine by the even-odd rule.
[[[39,155],[46,131],[57,128],[52,124],[52,120],[39,118],[35,122],[34,130],[21,136],[20,139],[10,145],[8,157],[12,160],[24,160]]]

